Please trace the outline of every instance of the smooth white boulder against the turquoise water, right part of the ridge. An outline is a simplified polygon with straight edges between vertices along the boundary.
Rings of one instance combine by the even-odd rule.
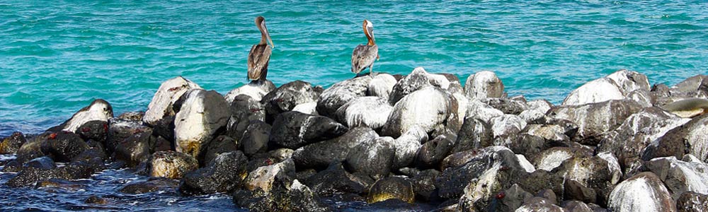
[[[624,95],[617,83],[610,78],[598,78],[576,88],[563,100],[562,105],[584,105],[607,100],[622,100]]]

